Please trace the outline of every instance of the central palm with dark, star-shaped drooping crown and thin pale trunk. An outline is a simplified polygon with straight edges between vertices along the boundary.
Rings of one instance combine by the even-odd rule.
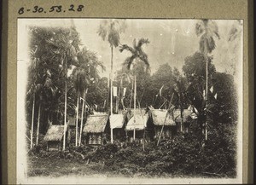
[[[143,61],[143,63],[146,65],[146,70],[149,70],[149,63],[148,63],[148,55],[143,51],[143,44],[148,44],[148,38],[141,38],[136,42],[136,39],[133,40],[133,47],[130,47],[126,44],[123,44],[120,46],[119,51],[123,52],[124,50],[130,51],[131,56],[127,57],[124,62],[124,66],[127,66],[128,70],[131,70],[131,65],[134,63],[134,61]],[[136,86],[136,74],[134,72],[134,122],[136,122],[135,116],[136,116],[136,95],[137,95],[137,86]],[[133,130],[133,139],[135,140],[135,127]]]

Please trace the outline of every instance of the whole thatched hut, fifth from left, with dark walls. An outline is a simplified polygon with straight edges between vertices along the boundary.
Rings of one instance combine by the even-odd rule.
[[[149,115],[154,124],[154,137],[159,138],[163,128],[161,138],[172,138],[176,133],[176,123],[172,119],[172,114],[166,109],[150,109]]]

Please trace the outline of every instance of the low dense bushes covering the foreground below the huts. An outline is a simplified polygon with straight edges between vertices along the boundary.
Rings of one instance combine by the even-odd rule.
[[[141,144],[117,142],[100,147],[73,147],[67,152],[45,152],[40,146],[30,156],[37,156],[37,160],[79,161],[92,167],[98,164],[97,172],[112,171],[124,176],[236,177],[236,125],[213,127],[206,147],[201,147],[198,131],[196,125],[191,125],[189,133],[161,142],[158,147],[149,142],[145,151]]]

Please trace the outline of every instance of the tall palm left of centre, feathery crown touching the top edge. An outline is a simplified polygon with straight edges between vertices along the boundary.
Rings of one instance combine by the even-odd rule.
[[[97,31],[103,41],[108,39],[111,49],[111,72],[110,72],[110,113],[113,113],[113,47],[119,46],[120,33],[125,32],[125,22],[122,20],[102,20]]]

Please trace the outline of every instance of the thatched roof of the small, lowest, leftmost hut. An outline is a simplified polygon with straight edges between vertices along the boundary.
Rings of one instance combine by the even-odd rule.
[[[67,128],[67,127],[66,127]],[[47,130],[44,140],[49,142],[61,142],[64,135],[64,125],[51,124]]]

